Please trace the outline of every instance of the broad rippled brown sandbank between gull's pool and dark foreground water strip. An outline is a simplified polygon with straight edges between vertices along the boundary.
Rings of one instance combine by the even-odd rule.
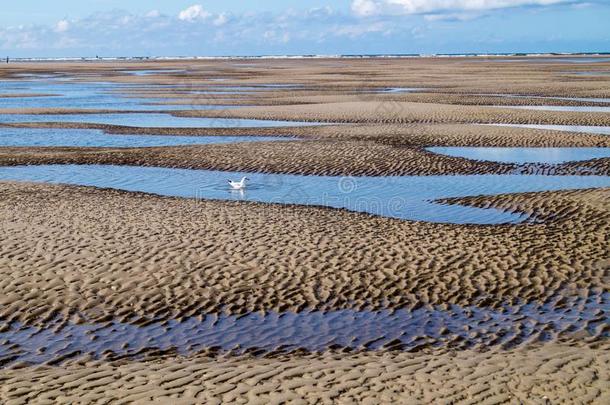
[[[39,325],[57,314],[129,321],[223,311],[499,307],[586,294],[607,288],[608,195],[465,198],[544,222],[461,226],[3,183],[2,228],[11,237],[0,247],[0,317]]]

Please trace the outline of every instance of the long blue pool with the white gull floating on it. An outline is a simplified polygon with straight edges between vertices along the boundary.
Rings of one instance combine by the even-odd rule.
[[[243,176],[250,178],[248,188],[243,192],[229,190],[227,180]],[[610,187],[610,177],[604,176],[330,177],[103,165],[2,167],[0,180],[64,183],[187,198],[321,205],[391,218],[457,224],[519,223],[527,218],[492,208],[433,201]]]

